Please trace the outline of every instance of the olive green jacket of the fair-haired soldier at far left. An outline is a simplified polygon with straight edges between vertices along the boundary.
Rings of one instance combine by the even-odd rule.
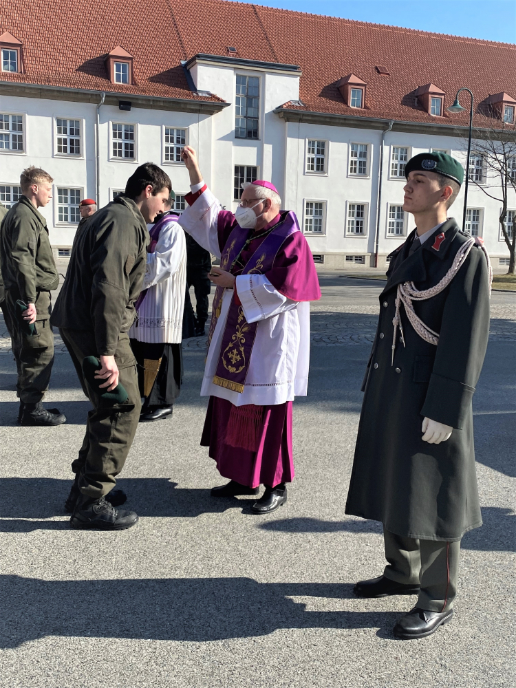
[[[25,196],[21,196],[3,218],[0,227],[0,264],[6,290],[12,291],[17,299],[25,303],[35,303],[39,319],[48,316],[50,294],[42,294],[44,305],[41,299],[40,304],[43,308],[38,308],[36,302],[40,292],[50,292],[58,287],[59,275],[52,255],[47,221]]]

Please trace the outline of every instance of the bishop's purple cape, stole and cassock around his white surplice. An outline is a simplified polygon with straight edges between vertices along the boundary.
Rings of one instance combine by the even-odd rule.
[[[189,205],[193,205],[205,189],[186,195]],[[239,227],[233,213],[220,211],[217,236],[222,269],[235,276],[264,275],[272,288],[290,301],[321,298],[312,252],[294,213],[281,211],[265,228],[248,230]],[[238,280],[227,313],[213,384],[242,392],[246,388],[248,363],[261,323],[247,323],[237,285]],[[217,288],[210,341],[221,313],[223,294],[224,290]],[[296,305],[291,304],[291,307]],[[309,337],[309,330],[306,336]],[[274,345],[271,339],[270,346]],[[304,345],[308,347],[309,342]],[[238,405],[211,394],[201,444],[209,447],[209,454],[221,475],[253,488],[259,484],[275,487],[292,481],[292,398],[273,405]]]

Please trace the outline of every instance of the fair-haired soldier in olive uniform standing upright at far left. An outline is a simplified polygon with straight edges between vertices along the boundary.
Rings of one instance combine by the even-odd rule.
[[[52,198],[52,181],[42,169],[24,170],[20,177],[23,195],[3,218],[0,230],[4,308],[12,328],[15,356],[18,352],[19,357],[17,387],[22,425],[52,426],[66,421],[57,409],[44,409],[41,403],[54,364],[50,292],[58,287],[59,275],[47,222],[38,208]]]

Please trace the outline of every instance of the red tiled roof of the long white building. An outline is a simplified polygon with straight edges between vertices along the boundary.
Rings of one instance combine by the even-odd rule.
[[[461,96],[464,113],[433,118],[416,105],[415,92],[436,84],[446,107],[468,86],[475,125],[490,127],[502,123],[486,115],[488,96],[516,97],[516,45],[223,0],[33,0],[30,12],[4,0],[0,31],[6,30],[23,43],[25,73],[3,73],[3,80],[112,91],[105,56],[123,45],[136,83],[117,84],[118,92],[206,100],[191,92],[180,61],[198,53],[227,57],[230,45],[239,58],[300,65],[299,98],[311,111],[463,125],[469,96]],[[365,109],[347,107],[338,92],[347,74],[367,83]]]

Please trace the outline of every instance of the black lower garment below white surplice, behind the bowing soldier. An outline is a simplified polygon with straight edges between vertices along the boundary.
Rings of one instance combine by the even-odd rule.
[[[181,393],[183,379],[183,354],[181,344],[149,343],[131,339],[131,349],[138,362],[140,396],[144,394],[145,361],[159,361],[151,393],[145,397],[145,406],[172,406]],[[147,374],[149,371],[147,370]]]

